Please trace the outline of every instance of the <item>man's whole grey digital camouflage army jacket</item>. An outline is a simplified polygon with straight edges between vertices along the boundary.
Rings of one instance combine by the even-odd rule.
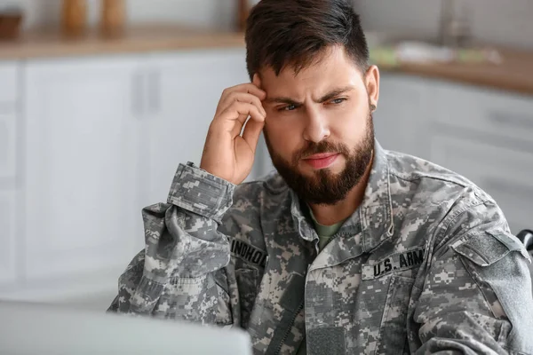
[[[322,251],[281,177],[180,165],[110,312],[243,327],[254,354],[533,353],[529,255],[487,193],[382,149]],[[441,352],[442,351],[442,352]]]

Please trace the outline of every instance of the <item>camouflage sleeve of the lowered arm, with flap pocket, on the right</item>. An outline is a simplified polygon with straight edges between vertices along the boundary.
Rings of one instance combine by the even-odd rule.
[[[459,212],[418,289],[416,353],[533,353],[529,254],[493,202]]]

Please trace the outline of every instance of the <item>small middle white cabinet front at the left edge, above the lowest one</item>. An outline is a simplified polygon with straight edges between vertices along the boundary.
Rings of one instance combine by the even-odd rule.
[[[15,114],[0,113],[0,182],[15,177],[16,146]]]

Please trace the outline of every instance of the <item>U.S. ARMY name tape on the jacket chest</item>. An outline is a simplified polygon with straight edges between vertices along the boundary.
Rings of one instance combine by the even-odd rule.
[[[426,246],[410,248],[386,256],[376,264],[362,266],[362,280],[371,280],[390,272],[401,272],[416,267],[424,261]]]

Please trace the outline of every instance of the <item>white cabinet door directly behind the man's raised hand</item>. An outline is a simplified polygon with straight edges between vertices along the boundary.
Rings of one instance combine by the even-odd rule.
[[[250,79],[242,49],[158,54],[150,67],[150,197],[166,201],[179,163],[200,163],[222,91]]]

